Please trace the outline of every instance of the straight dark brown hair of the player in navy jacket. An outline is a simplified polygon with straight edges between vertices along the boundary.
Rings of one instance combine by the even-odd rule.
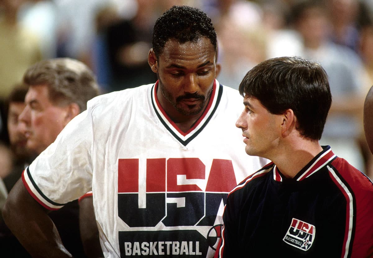
[[[272,114],[292,109],[301,135],[321,138],[332,95],[327,74],[319,63],[300,57],[268,59],[248,71],[239,92],[257,98]]]

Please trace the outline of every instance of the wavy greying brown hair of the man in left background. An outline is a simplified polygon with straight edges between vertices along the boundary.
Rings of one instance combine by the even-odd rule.
[[[36,63],[25,72],[23,82],[29,86],[47,85],[53,104],[76,103],[81,112],[87,109],[87,101],[99,94],[93,72],[84,63],[70,58]]]

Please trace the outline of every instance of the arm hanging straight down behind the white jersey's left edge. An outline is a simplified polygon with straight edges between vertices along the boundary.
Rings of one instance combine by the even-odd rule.
[[[93,197],[88,196],[79,202],[79,227],[85,255],[89,258],[104,257],[93,208]]]

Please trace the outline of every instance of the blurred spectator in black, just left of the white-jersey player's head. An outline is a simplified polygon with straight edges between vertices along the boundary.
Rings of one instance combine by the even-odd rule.
[[[156,79],[149,69],[148,55],[151,35],[158,16],[156,1],[137,0],[137,9],[131,19],[121,19],[106,29],[112,81],[110,91],[133,88]]]

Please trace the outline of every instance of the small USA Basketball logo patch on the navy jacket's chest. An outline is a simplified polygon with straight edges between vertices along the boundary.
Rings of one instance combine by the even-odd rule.
[[[315,226],[293,218],[288,232],[286,232],[286,235],[282,240],[298,249],[307,251],[312,246],[315,239],[315,233]]]

